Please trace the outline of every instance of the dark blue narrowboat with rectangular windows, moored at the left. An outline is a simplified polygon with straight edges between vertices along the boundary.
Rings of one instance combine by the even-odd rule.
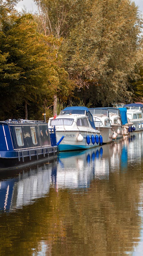
[[[35,120],[0,121],[0,170],[57,157],[48,124]]]

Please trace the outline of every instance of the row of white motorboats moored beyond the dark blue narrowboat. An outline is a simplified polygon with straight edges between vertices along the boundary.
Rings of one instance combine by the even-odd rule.
[[[143,118],[143,112],[139,117]],[[143,124],[135,125],[126,107],[67,107],[49,119],[48,127],[52,144],[57,145],[59,151],[69,151],[110,143],[138,131]]]

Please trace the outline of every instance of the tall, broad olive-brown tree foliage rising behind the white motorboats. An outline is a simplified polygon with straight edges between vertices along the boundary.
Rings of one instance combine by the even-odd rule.
[[[130,0],[55,0],[41,7],[44,31],[63,37],[63,67],[78,90],[90,88],[93,104],[130,101],[129,77],[135,77],[142,19]],[[61,24],[61,25],[59,25]],[[83,92],[83,93],[84,93]],[[81,95],[75,93],[77,97]]]

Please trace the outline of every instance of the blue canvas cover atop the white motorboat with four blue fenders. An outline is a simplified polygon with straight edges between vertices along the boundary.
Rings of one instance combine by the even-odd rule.
[[[85,115],[85,111],[86,111],[86,115],[89,117],[89,122],[90,122],[92,128],[96,129],[95,124],[94,124],[94,120],[93,120],[93,116],[92,116],[92,114],[90,113],[90,111],[87,107],[80,107],[80,106],[66,107],[65,109],[63,109],[61,111],[61,113],[64,114],[64,115],[69,114],[69,113]],[[60,115],[62,115],[61,113],[60,113]]]

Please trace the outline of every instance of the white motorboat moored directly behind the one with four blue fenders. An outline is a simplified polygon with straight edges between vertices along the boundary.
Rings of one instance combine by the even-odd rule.
[[[94,124],[97,130],[101,132],[103,143],[110,143],[112,139],[116,139],[116,134],[112,129],[109,111],[104,108],[89,108],[93,115]]]

